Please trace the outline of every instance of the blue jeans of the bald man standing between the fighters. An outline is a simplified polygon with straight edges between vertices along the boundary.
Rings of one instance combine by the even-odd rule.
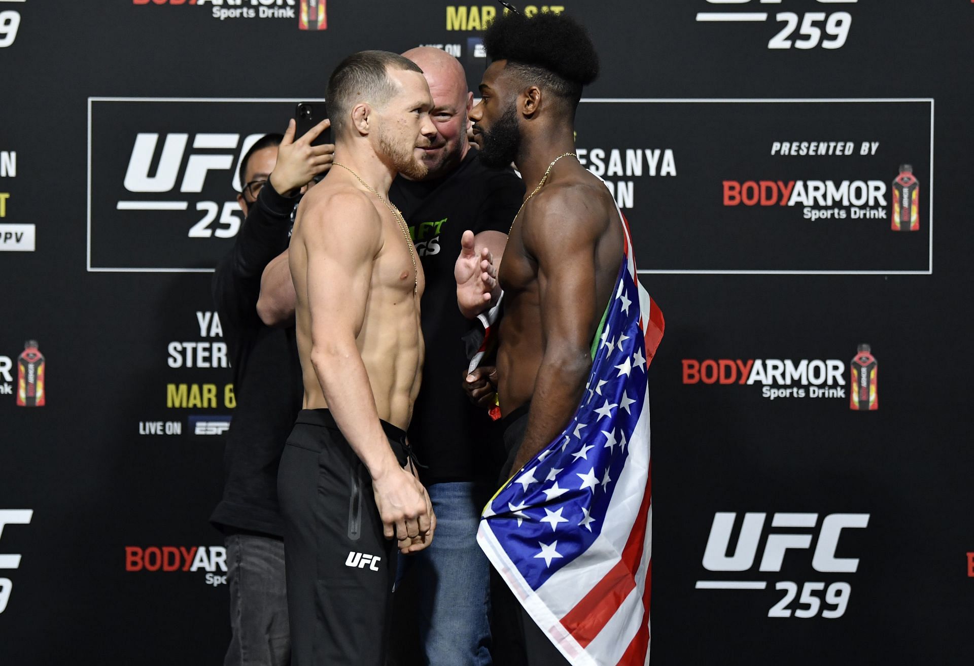
[[[399,558],[398,577],[417,576],[420,641],[429,666],[490,666],[490,562],[477,545],[491,488],[434,483],[429,548]]]

